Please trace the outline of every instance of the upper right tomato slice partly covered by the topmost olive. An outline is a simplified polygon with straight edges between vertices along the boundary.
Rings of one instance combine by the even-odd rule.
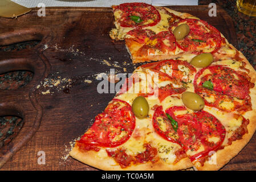
[[[184,51],[193,53],[202,53],[205,48],[214,48],[212,53],[217,52],[221,47],[220,32],[204,20],[182,19],[169,28],[172,31],[180,23],[186,23],[189,26],[189,34],[182,40],[177,40],[177,46]],[[198,51],[199,50],[199,51]]]

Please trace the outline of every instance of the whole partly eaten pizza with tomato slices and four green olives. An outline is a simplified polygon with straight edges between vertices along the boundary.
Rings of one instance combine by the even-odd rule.
[[[207,22],[145,3],[113,6],[128,77],[70,155],[103,170],[218,170],[256,129],[256,72]]]

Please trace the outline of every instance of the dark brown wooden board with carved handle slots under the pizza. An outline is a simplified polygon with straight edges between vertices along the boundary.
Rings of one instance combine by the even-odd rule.
[[[206,20],[237,47],[233,22],[220,7],[216,17],[208,15],[208,6],[170,8]],[[96,76],[111,68],[132,73],[138,65],[131,63],[123,41],[108,36],[114,27],[110,8],[50,7],[45,17],[37,11],[17,19],[0,18],[0,46],[41,41],[32,49],[0,52],[0,73],[34,73],[25,87],[0,92],[0,114],[24,121],[17,137],[0,149],[1,170],[95,170],[68,157],[68,152],[115,96],[97,93]],[[255,147],[254,135],[223,169],[256,169]],[[45,164],[39,158],[42,154]]]

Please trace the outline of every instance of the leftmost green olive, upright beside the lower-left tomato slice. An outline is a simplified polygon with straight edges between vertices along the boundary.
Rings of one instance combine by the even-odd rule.
[[[143,96],[136,97],[132,102],[132,111],[139,119],[147,117],[149,111],[148,101]]]

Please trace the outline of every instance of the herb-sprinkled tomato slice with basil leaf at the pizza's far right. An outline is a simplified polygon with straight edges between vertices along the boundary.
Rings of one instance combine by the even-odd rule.
[[[213,89],[205,87],[205,82],[211,82]],[[206,105],[226,111],[241,110],[241,107],[242,110],[250,110],[249,93],[253,86],[254,84],[250,82],[250,77],[245,72],[234,71],[222,65],[213,65],[201,69],[194,79],[195,92],[205,99]],[[212,97],[213,101],[210,102],[207,99],[208,97]],[[221,106],[225,102],[232,103],[233,107],[225,108]],[[245,105],[249,107],[244,107]]]

